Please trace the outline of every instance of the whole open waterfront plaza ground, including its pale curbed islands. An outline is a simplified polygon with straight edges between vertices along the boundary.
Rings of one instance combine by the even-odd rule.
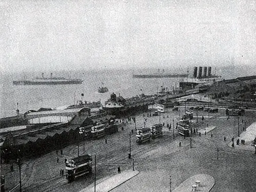
[[[22,190],[93,191],[95,155],[96,191],[170,191],[170,188],[173,191],[191,191],[197,180],[200,180],[199,191],[253,191],[256,188],[253,179],[256,155],[251,145],[256,136],[256,111],[246,110],[244,116],[228,118],[225,109],[219,109],[217,113],[194,110],[191,120],[193,132],[185,138],[176,129],[179,115],[185,113],[185,106],[179,106],[178,111],[165,109],[157,116],[153,113],[152,108],[138,113],[135,116],[136,128],[164,124],[162,137],[138,145],[135,122],[127,118],[118,119],[117,133],[79,143],[80,155],[91,154],[93,157],[92,175],[68,182],[66,173],[60,174],[60,170],[65,170],[65,159],[78,155],[77,143],[61,152],[24,160],[21,165]],[[237,145],[238,138],[245,140],[244,145],[241,142]],[[130,150],[132,158],[129,158]],[[2,164],[1,172],[5,175],[6,191],[18,191],[18,165],[13,163],[11,171],[11,163]]]

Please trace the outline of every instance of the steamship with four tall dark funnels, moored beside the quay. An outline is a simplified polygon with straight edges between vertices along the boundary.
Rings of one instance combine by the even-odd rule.
[[[203,71],[203,74],[202,74]],[[191,87],[195,88],[198,84],[210,85],[214,82],[220,82],[224,80],[221,76],[211,75],[211,67],[194,67],[193,78],[185,78],[182,82],[180,82],[180,87]]]

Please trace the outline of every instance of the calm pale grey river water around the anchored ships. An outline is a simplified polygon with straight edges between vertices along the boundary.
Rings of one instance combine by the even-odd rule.
[[[192,67],[190,67],[192,74]],[[213,68],[213,67],[212,67]],[[215,73],[215,70],[212,69]],[[135,79],[133,74],[156,73],[157,69],[125,69],[125,70],[98,70],[98,71],[53,71],[54,77],[80,78],[83,83],[80,85],[13,85],[12,81],[23,79],[24,73],[3,74],[1,76],[1,111],[0,117],[15,115],[17,103],[20,113],[28,110],[38,110],[41,107],[60,107],[74,104],[76,100],[99,101],[104,103],[110,94],[120,93],[124,98],[129,98],[142,92],[144,94],[154,94],[157,87],[172,88],[179,86],[182,78],[162,78],[162,79]],[[170,72],[165,70],[166,73]],[[172,73],[186,74],[186,70],[172,70]],[[254,67],[223,67],[217,71],[225,79],[241,76],[255,75]],[[50,74],[50,73],[49,73]],[[26,77],[39,77],[40,73],[26,73]],[[45,77],[49,77],[45,73]],[[101,86],[109,88],[109,92],[98,93],[97,89]],[[81,98],[81,93],[84,97]],[[76,95],[76,96],[75,96]]]

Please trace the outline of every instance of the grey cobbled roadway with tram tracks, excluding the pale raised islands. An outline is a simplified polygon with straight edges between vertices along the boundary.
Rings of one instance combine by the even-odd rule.
[[[172,185],[175,188],[193,175],[207,174],[214,177],[216,181],[216,185],[211,191],[252,191],[256,188],[256,182],[253,180],[256,173],[254,152],[228,147],[231,138],[238,135],[237,117],[230,117],[227,120],[224,109],[210,115],[205,111],[198,111],[198,116],[205,118],[204,121],[199,118],[198,122],[195,118],[193,129],[204,129],[206,124],[208,127],[215,127],[215,129],[210,130],[207,135],[192,134],[192,148],[190,148],[190,139],[184,139],[176,133],[176,129],[173,130],[173,123],[176,125],[179,113],[180,115],[184,114],[184,108],[179,112],[172,111],[172,109],[165,111],[161,117],[147,117],[147,113],[144,116],[143,114],[136,116],[136,127],[144,126],[144,118],[147,118],[145,126],[159,123],[159,119],[161,123],[165,123],[163,137],[158,137],[150,143],[137,145],[135,133],[131,137],[131,153],[135,157],[135,170],[138,170],[140,174],[145,174],[145,182],[151,182],[155,184],[155,189],[165,191],[169,188],[169,175],[172,175]],[[150,114],[150,112],[148,113]],[[246,110],[245,116],[241,117],[244,122],[246,121],[246,127],[253,123],[255,114],[255,111]],[[172,123],[170,130],[166,128],[168,122],[169,124]],[[83,142],[80,143],[80,153],[97,155],[97,180],[114,176],[117,173],[118,164],[121,170],[132,169],[132,159],[127,158],[129,132],[135,128],[134,123],[131,123],[123,126],[123,131],[121,131],[121,125],[118,133],[106,136],[105,138],[108,140],[106,144],[104,138],[87,140],[83,151]],[[245,125],[240,123],[240,126]],[[174,135],[173,131],[175,132]],[[240,131],[242,133],[243,130],[240,129]],[[224,141],[224,136],[226,136],[226,141]],[[180,141],[181,147],[179,147]],[[219,147],[218,160],[217,146]],[[59,157],[58,163],[56,161],[57,156]],[[94,177],[81,177],[68,183],[65,177],[59,175],[59,170],[65,169],[63,161],[67,156],[77,156],[77,145],[63,149],[63,155],[57,155],[53,152],[32,160],[33,166],[30,172],[26,172],[28,177],[23,182],[23,191],[80,191],[93,183]],[[15,178],[14,181],[18,181],[17,175],[12,177]],[[12,177],[6,177],[7,182]],[[130,182],[132,181],[134,181],[134,185],[147,185],[135,178],[131,179]]]

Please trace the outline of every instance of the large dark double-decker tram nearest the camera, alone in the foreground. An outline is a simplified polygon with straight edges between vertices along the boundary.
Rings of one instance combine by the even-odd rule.
[[[66,161],[67,179],[69,182],[77,177],[92,173],[92,155],[86,154]]]

